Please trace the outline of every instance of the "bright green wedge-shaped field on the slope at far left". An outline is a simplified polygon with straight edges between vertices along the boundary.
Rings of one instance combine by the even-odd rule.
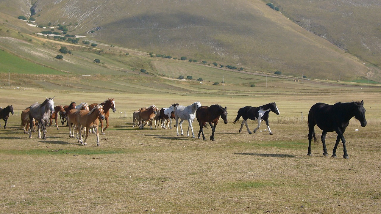
[[[0,50],[0,72],[8,73],[27,73],[27,74],[53,74],[63,75],[64,73],[53,70],[42,65],[34,64],[6,51]]]

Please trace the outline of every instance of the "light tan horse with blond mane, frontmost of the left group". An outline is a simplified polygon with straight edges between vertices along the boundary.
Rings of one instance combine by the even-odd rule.
[[[78,143],[86,145],[87,137],[89,136],[89,132],[86,130],[95,129],[96,134],[96,145],[99,146],[99,132],[98,126],[99,121],[104,120],[104,110],[101,105],[97,105],[91,111],[89,110],[80,110],[77,115],[77,129],[79,131],[79,139]],[[86,129],[85,129],[86,128]],[[82,140],[82,131],[85,129],[86,137],[85,141]]]

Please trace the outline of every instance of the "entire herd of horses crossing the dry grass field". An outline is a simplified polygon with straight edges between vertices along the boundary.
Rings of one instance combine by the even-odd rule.
[[[101,126],[101,133],[104,134],[104,131],[109,127],[109,110],[112,109],[115,112],[115,100],[107,99],[106,101],[98,104],[94,103],[88,105],[85,102],[82,102],[78,106],[75,105],[75,102],[71,102],[70,105],[57,105],[54,106],[53,98],[46,98],[42,104],[38,104],[37,102],[30,107],[27,107],[21,113],[21,127],[24,128],[24,133],[29,133],[29,137],[32,137],[32,132],[35,130],[35,126],[37,126],[38,130],[38,138],[41,138],[41,129],[43,130],[42,139],[46,139],[46,126],[50,126],[53,122],[53,119],[57,125],[58,112],[61,118],[61,124],[64,125],[66,120],[67,126],[69,126],[69,137],[74,138],[74,131],[77,133],[78,143],[86,145],[86,139],[88,134],[93,132],[96,134],[97,145],[99,146],[99,134],[98,134],[98,126]],[[144,125],[149,124],[152,129],[153,123],[155,123],[155,128],[158,127],[159,121],[163,129],[167,126],[168,128],[172,128],[171,119],[176,120],[176,133],[179,136],[178,126],[181,129],[181,135],[183,135],[182,123],[184,121],[188,121],[188,130],[187,136],[189,136],[189,129],[192,131],[192,137],[195,138],[193,131],[193,120],[197,118],[199,122],[200,131],[198,138],[200,139],[200,135],[204,140],[206,140],[203,128],[208,123],[212,129],[212,134],[210,136],[211,141],[215,141],[214,134],[215,129],[218,124],[218,120],[221,117],[224,123],[227,123],[227,107],[223,108],[221,105],[211,105],[211,106],[202,106],[200,102],[194,102],[191,105],[184,106],[179,104],[172,104],[168,108],[158,109],[155,105],[151,105],[149,107],[141,108],[133,113],[133,128],[136,126],[136,122],[138,123],[139,129],[143,129]],[[261,105],[259,107],[251,107],[245,106],[238,110],[237,117],[234,120],[234,124],[243,118],[241,123],[241,127],[239,132],[241,133],[243,125],[246,126],[249,134],[252,134],[247,120],[255,120],[258,123],[257,128],[253,130],[254,133],[258,131],[261,126],[261,121],[265,121],[267,125],[267,130],[269,134],[272,135],[270,126],[269,126],[269,113],[274,112],[279,115],[279,109],[275,102],[271,102],[265,105]],[[9,117],[9,113],[13,114],[13,105],[9,105],[5,109],[0,108],[0,119],[5,121],[4,129],[6,128],[6,122]],[[320,129],[323,130],[321,139],[323,143],[323,155],[328,156],[327,147],[325,145],[325,136],[327,132],[335,131],[337,133],[336,144],[333,149],[332,157],[336,157],[336,149],[341,140],[344,147],[344,158],[349,158],[345,145],[345,138],[343,136],[345,129],[349,125],[349,120],[355,117],[360,121],[362,127],[367,125],[367,121],[365,119],[365,108],[364,102],[346,102],[341,103],[338,102],[334,105],[317,103],[314,104],[308,113],[308,153],[311,154],[311,141],[314,138],[316,142],[317,139],[315,137],[314,127],[317,125]],[[180,122],[179,122],[180,119]],[[103,128],[102,120],[106,121],[106,127]],[[166,122],[166,124],[165,124]],[[212,125],[213,123],[213,125]],[[85,136],[82,135],[82,132],[85,132]],[[79,133],[79,137],[78,137]],[[83,141],[83,138],[85,140]]]

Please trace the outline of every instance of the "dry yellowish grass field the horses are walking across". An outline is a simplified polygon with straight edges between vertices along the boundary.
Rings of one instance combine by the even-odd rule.
[[[282,89],[283,90],[283,89]],[[285,89],[287,90],[287,89]],[[324,90],[324,89],[320,89]],[[179,96],[88,94],[0,89],[2,107],[13,104],[7,129],[0,129],[2,213],[379,213],[381,160],[379,89],[325,89],[325,93],[253,93]],[[114,97],[117,112],[100,136],[86,146],[70,139],[66,126],[48,128],[46,140],[23,134],[20,112],[45,97],[56,104],[89,103]],[[307,156],[307,114],[315,102],[363,99],[368,125],[352,119],[344,136],[350,159],[322,156],[321,142]],[[216,141],[176,136],[174,129],[132,128],[132,112],[155,104],[168,107],[200,101],[227,105],[228,124],[219,123]],[[275,101],[274,135],[247,134],[231,122],[240,107]],[[126,111],[126,113],[125,113]],[[304,120],[301,120],[304,112]],[[3,121],[0,121],[3,126]],[[264,123],[263,123],[264,124]],[[249,123],[250,129],[256,124]],[[197,136],[199,126],[194,121]],[[187,122],[183,128],[186,132]],[[316,127],[317,134],[320,130]],[[359,129],[359,131],[355,131]],[[211,129],[204,129],[206,137]],[[336,135],[327,134],[328,153]]]

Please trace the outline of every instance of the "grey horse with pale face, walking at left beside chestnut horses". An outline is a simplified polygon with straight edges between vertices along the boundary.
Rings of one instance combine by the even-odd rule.
[[[42,104],[35,104],[29,109],[29,137],[32,138],[33,119],[38,121],[38,138],[41,138],[41,127],[43,129],[42,139],[46,140],[46,125],[48,124],[50,115],[54,113],[53,98],[47,98]]]

